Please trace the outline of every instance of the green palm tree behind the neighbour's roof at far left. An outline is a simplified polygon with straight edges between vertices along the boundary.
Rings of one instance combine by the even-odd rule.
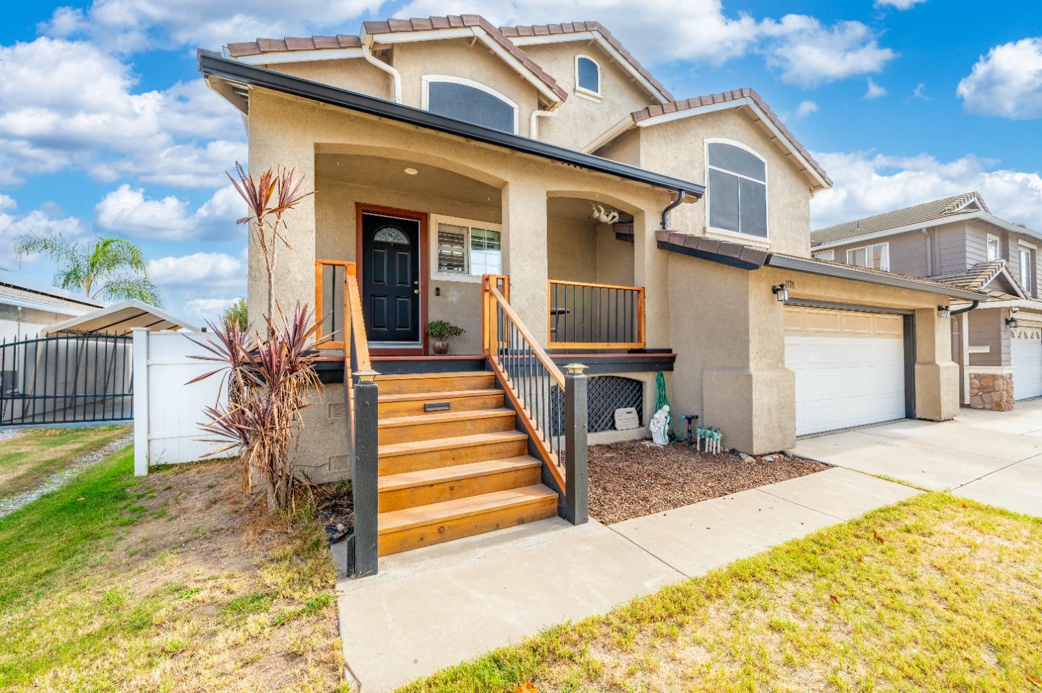
[[[15,253],[47,255],[57,264],[53,284],[88,298],[122,301],[137,298],[163,305],[159,289],[148,278],[141,248],[111,237],[76,242],[60,233],[33,231],[15,239]]]

